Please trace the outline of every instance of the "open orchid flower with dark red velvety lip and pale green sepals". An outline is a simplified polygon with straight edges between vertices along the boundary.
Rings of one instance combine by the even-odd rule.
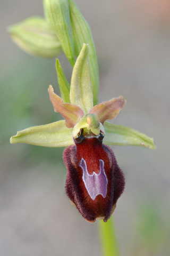
[[[48,92],[54,110],[65,120],[22,130],[10,141],[66,147],[63,160],[67,169],[67,196],[84,219],[95,222],[98,218],[106,222],[123,193],[125,183],[114,153],[106,145],[154,148],[154,142],[130,127],[106,122],[114,119],[125,105],[122,96],[94,106],[88,44],[83,44],[75,62],[70,89],[58,60],[56,67],[58,77],[61,75],[60,89],[61,94],[64,92],[64,100],[54,93],[52,85],[49,85]]]

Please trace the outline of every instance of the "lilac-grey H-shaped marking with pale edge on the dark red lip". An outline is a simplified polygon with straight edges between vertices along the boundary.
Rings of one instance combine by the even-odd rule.
[[[97,195],[102,195],[103,198],[107,194],[107,177],[104,169],[104,161],[100,161],[100,172],[97,174],[93,172],[92,174],[88,173],[86,161],[84,158],[81,158],[80,167],[83,170],[83,182],[88,191],[89,196],[92,200],[95,200]]]

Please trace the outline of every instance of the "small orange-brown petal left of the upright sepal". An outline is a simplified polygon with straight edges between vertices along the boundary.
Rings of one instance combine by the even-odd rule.
[[[53,86],[48,88],[49,98],[53,104],[54,110],[60,113],[65,119],[65,125],[70,128],[77,124],[79,118],[84,114],[83,110],[70,103],[64,103],[63,99],[54,93]]]

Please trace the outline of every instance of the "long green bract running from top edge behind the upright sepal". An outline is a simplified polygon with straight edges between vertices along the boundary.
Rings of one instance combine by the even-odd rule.
[[[96,105],[98,103],[99,69],[95,44],[86,20],[82,17],[81,12],[72,0],[69,0],[69,7],[75,55],[78,57],[83,43],[89,44],[89,66],[91,73],[91,85],[94,105]]]

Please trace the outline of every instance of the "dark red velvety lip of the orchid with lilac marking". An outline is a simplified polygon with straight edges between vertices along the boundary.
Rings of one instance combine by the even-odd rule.
[[[103,138],[102,132],[95,135],[81,129],[74,139],[75,145],[63,153],[66,194],[89,222],[95,222],[96,218],[106,222],[124,190],[123,172],[111,148],[103,144]]]

